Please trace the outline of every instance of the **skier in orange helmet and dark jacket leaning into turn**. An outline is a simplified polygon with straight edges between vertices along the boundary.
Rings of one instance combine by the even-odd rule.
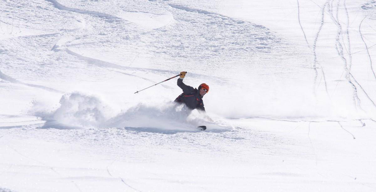
[[[183,93],[180,94],[175,102],[179,104],[185,104],[191,110],[197,109],[200,113],[205,113],[204,103],[202,101],[203,96],[209,92],[209,86],[205,83],[200,84],[199,89],[187,86],[183,83],[186,72],[180,72],[180,78],[177,79],[177,86],[179,86]]]

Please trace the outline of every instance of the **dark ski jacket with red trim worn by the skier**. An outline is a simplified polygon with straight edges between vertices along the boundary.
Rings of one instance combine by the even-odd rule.
[[[197,109],[205,111],[204,103],[202,101],[203,96],[200,95],[200,90],[191,86],[187,86],[180,78],[177,79],[177,86],[179,86],[183,90],[183,93],[175,99],[175,102],[184,103],[188,108],[192,110]]]

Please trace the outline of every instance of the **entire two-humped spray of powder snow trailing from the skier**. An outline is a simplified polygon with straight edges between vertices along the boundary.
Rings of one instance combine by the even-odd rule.
[[[74,92],[63,95],[60,106],[50,112],[35,114],[46,120],[42,128],[86,129],[100,127],[125,127],[129,130],[176,133],[197,131],[197,126],[210,126],[212,131],[221,132],[231,129],[219,122],[209,122],[205,115],[197,110],[189,110],[174,102],[162,104],[136,104],[121,113],[96,96]],[[35,105],[35,109],[38,107]]]

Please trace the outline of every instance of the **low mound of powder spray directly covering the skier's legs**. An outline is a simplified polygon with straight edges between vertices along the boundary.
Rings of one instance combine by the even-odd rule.
[[[197,126],[200,125],[209,125],[210,131],[215,132],[231,129],[219,122],[209,122],[197,110],[191,111],[185,105],[174,102],[160,105],[138,104],[106,122],[108,127],[160,133],[197,131]]]

